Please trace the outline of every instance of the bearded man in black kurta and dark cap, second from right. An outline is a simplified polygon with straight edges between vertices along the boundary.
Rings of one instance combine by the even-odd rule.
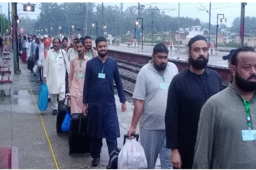
[[[222,90],[217,72],[207,69],[206,39],[197,35],[188,42],[189,68],[174,78],[169,87],[165,113],[166,147],[171,149],[175,168],[191,169],[200,110],[212,95]]]

